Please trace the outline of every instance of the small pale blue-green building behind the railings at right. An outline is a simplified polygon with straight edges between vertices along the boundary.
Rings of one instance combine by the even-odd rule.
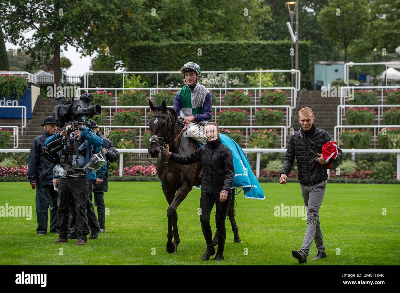
[[[344,79],[344,61],[315,61],[314,62],[314,89],[322,86],[330,88],[335,79]]]

